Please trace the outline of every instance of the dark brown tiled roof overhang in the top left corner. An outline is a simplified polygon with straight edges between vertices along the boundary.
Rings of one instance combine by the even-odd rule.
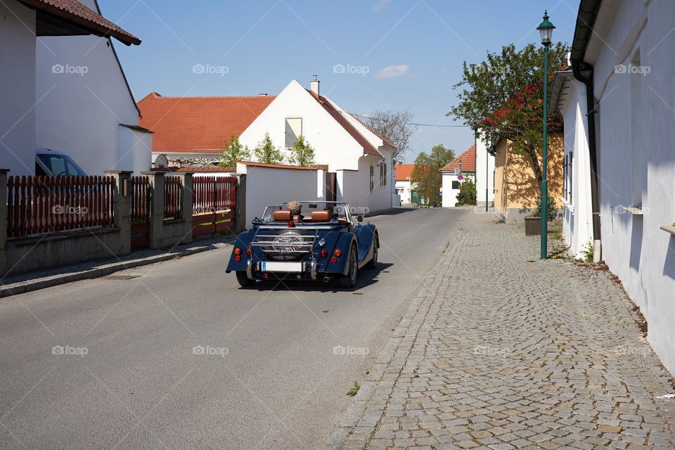
[[[123,44],[139,45],[141,39],[122,30],[110,20],[96,11],[92,11],[77,0],[19,0],[21,3],[35,8],[37,12],[37,35],[60,36],[81,34],[83,29],[96,36],[112,36]],[[68,25],[64,24],[65,23]],[[75,28],[72,27],[75,25]]]

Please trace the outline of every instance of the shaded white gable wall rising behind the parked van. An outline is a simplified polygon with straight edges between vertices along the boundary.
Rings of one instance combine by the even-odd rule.
[[[82,4],[97,11],[94,0]],[[68,153],[88,174],[150,169],[150,153],[120,147],[120,124],[136,125],[139,112],[108,39],[40,37],[36,50],[37,146]],[[129,158],[129,153],[136,153]],[[147,162],[147,164],[146,164]]]

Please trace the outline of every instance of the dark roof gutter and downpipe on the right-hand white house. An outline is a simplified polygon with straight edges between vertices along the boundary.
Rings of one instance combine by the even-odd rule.
[[[596,137],[596,110],[593,95],[593,66],[586,63],[586,50],[593,34],[593,26],[598,18],[602,0],[581,0],[577,14],[577,27],[572,40],[572,72],[574,78],[586,86],[586,121],[589,131],[589,160],[591,169],[591,212],[593,214],[593,259],[599,262],[602,257],[600,231],[600,195],[598,193],[598,147]]]

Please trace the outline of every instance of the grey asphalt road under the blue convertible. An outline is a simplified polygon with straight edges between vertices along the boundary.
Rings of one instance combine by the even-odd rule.
[[[1,299],[0,448],[321,447],[465,214],[371,218],[349,291],[243,290],[221,249]]]

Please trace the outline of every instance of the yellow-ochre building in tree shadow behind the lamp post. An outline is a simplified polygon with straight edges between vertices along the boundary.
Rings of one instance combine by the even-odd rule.
[[[555,207],[562,208],[563,197],[563,133],[548,135],[548,196]],[[508,139],[500,139],[491,149],[494,153],[494,207],[507,224],[534,211],[541,196],[541,182],[536,179],[529,155],[518,154]],[[541,165],[541,155],[539,157]]]

